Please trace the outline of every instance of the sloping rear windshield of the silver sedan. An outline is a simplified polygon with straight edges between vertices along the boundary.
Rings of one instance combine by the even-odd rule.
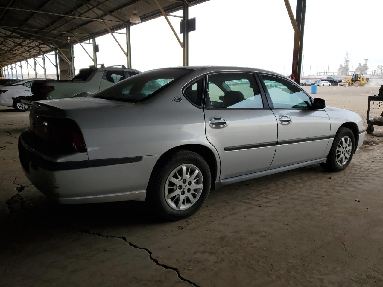
[[[96,93],[93,97],[127,102],[143,101],[191,71],[186,68],[169,68],[140,73]]]

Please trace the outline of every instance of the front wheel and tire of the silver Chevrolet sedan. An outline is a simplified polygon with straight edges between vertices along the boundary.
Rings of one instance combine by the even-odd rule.
[[[334,138],[334,142],[332,142],[326,163],[321,163],[322,168],[329,172],[344,170],[350,164],[354,150],[354,134],[350,129],[340,127]]]

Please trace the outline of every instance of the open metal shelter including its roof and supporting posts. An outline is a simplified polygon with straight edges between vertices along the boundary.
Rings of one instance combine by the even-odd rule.
[[[125,50],[127,65],[130,68],[132,57],[130,26],[134,23],[130,23],[129,19],[133,9],[138,11],[141,22],[162,15],[165,18],[174,16],[170,13],[182,9],[182,23],[186,31],[182,40],[178,39],[175,29],[169,21],[168,23],[183,49],[183,65],[188,65],[188,7],[205,1],[208,0],[8,0],[3,7],[0,7],[1,72],[5,75],[4,67],[12,64],[15,64],[16,70],[17,67],[22,69],[20,62],[33,58],[33,66],[27,64],[26,67],[29,69],[29,65],[36,76],[37,63],[43,67],[46,74],[44,54],[54,52],[56,61],[52,64],[56,66],[57,75],[59,75],[57,62],[60,60],[61,69],[66,65],[61,78],[73,76],[74,44],[92,40],[93,55],[88,56],[94,64],[97,64],[95,38],[107,33],[113,36],[113,32],[123,28],[126,30],[125,49],[116,41],[119,47]],[[297,0],[296,19],[293,17],[288,0],[285,0],[285,4],[295,31],[292,73],[299,82],[306,0]],[[37,57],[42,58],[42,64],[36,60]]]

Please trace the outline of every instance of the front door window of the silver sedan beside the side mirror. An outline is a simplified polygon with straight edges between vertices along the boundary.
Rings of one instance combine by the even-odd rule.
[[[298,86],[287,79],[261,75],[274,108],[309,109],[311,100]]]

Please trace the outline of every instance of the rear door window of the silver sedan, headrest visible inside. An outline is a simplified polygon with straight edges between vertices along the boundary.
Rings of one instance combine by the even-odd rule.
[[[252,73],[218,73],[208,76],[206,107],[263,108]]]

